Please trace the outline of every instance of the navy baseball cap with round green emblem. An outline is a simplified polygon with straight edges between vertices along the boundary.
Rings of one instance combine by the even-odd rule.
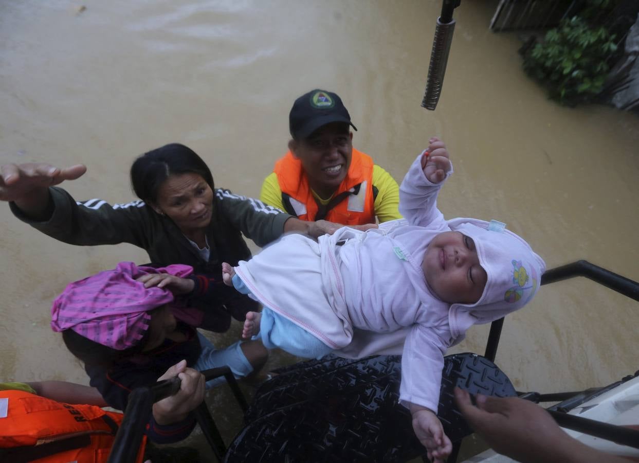
[[[342,98],[337,93],[319,88],[297,98],[288,116],[289,130],[295,139],[305,138],[331,122],[345,122],[357,130]]]

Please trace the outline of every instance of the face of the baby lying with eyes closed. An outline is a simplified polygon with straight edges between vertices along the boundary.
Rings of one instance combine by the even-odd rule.
[[[479,265],[475,242],[459,231],[444,231],[431,241],[422,270],[431,290],[449,304],[479,301],[488,280]]]

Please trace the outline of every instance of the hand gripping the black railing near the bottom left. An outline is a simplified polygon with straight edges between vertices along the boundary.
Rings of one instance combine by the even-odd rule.
[[[164,375],[158,378],[181,379],[180,390],[171,396],[153,404],[153,418],[159,425],[169,425],[185,420],[187,414],[204,400],[204,375],[193,368],[187,368],[187,361],[181,360],[171,366]]]

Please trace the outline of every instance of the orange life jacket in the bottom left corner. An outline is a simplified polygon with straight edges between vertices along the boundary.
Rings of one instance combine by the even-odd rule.
[[[68,405],[25,391],[0,391],[0,460],[104,463],[122,419],[123,414],[95,405]],[[142,462],[145,444],[146,436],[136,463]]]

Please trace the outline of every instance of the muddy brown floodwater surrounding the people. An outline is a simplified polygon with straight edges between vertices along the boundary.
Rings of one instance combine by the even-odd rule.
[[[132,200],[132,160],[165,143],[193,148],[216,185],[259,196],[286,152],[288,111],[312,88],[336,91],[354,146],[399,182],[430,136],[455,173],[446,217],[498,219],[548,268],[586,259],[639,279],[638,118],[565,108],[521,70],[520,41],[491,33],[496,1],[463,2],[436,111],[420,107],[436,1],[109,1],[0,3],[0,162],[82,162],[63,186],[78,200]],[[0,208],[0,381],[87,384],[49,327],[69,281],[147,262],[129,245],[56,242]],[[254,249],[256,249],[254,247]],[[639,310],[585,279],[541,289],[507,317],[497,365],[518,390],[603,386],[639,368]],[[239,334],[217,338],[230,343]],[[484,351],[473,327],[456,352]],[[271,366],[291,361],[274,352]],[[218,407],[225,436],[239,412]],[[224,424],[226,423],[226,424]]]

